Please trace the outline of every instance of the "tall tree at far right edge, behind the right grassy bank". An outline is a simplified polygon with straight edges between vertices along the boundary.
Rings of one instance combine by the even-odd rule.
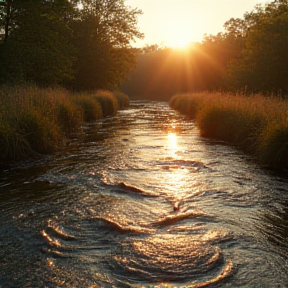
[[[279,0],[258,7],[250,14],[253,25],[246,37],[241,59],[228,67],[230,88],[248,91],[288,91],[288,1]],[[254,16],[254,17],[253,17]]]

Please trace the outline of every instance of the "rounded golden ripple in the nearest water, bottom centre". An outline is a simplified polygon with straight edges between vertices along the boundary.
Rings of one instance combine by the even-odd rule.
[[[115,252],[115,265],[122,270],[122,275],[126,274],[133,281],[181,282],[200,279],[200,283],[208,280],[207,275],[211,279],[221,275],[222,269],[229,270],[225,274],[227,277],[232,262],[225,263],[220,247],[211,245],[215,236],[218,237],[213,231],[211,239],[178,234],[126,239]]]

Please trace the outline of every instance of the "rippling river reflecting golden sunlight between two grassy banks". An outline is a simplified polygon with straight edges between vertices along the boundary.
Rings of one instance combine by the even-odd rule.
[[[79,140],[80,139],[80,140]],[[0,172],[0,287],[288,287],[288,178],[132,101]]]

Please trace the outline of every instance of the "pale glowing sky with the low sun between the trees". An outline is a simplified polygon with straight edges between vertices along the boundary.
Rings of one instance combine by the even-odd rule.
[[[145,34],[133,46],[165,45],[184,47],[201,42],[204,34],[223,31],[230,18],[242,18],[256,4],[268,0],[126,0],[127,5],[142,10],[138,27]]]

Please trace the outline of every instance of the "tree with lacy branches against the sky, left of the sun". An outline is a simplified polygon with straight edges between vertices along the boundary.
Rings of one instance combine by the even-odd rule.
[[[135,66],[130,43],[143,35],[137,28],[142,12],[125,6],[123,0],[84,0],[74,21],[77,48],[74,88],[115,88]]]

